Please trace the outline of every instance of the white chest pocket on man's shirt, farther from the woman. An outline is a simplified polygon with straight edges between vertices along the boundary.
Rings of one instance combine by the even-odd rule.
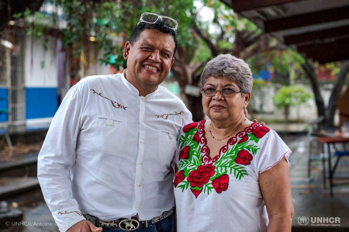
[[[116,154],[125,143],[125,123],[121,118],[96,117],[96,125],[99,133],[97,146],[105,154]]]

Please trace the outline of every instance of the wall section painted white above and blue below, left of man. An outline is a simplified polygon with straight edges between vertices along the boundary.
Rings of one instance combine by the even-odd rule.
[[[47,49],[44,48],[45,39]],[[57,38],[25,37],[25,119],[52,118],[58,109]]]

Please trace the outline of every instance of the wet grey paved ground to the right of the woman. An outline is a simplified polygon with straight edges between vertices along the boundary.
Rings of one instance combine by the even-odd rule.
[[[326,182],[327,189],[324,189],[323,186],[322,163],[320,161],[312,162],[311,176],[313,180],[309,181],[307,176],[309,153],[306,137],[284,136],[283,139],[293,151],[289,158],[292,197],[295,206],[292,231],[319,231],[318,227],[324,227],[326,231],[349,231],[349,159],[344,157],[346,159],[343,158],[337,168],[335,176],[346,177],[346,179],[334,181],[336,184],[344,185],[335,186],[334,196],[331,198],[328,181]],[[312,226],[311,222],[308,225],[300,226],[297,219],[302,216],[310,219],[312,217],[340,217],[340,226]]]

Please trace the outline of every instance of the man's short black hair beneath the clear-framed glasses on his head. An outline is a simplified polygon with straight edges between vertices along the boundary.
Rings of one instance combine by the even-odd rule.
[[[156,23],[145,23],[145,22],[139,23],[131,33],[131,36],[129,39],[129,42],[131,43],[131,45],[133,45],[139,39],[141,32],[147,29],[157,29],[165,34],[172,35],[174,40],[174,52],[173,52],[173,57],[174,57],[174,54],[176,53],[177,47],[178,47],[177,33],[171,28],[169,28],[167,26],[167,23],[162,20],[158,20],[156,21]]]

